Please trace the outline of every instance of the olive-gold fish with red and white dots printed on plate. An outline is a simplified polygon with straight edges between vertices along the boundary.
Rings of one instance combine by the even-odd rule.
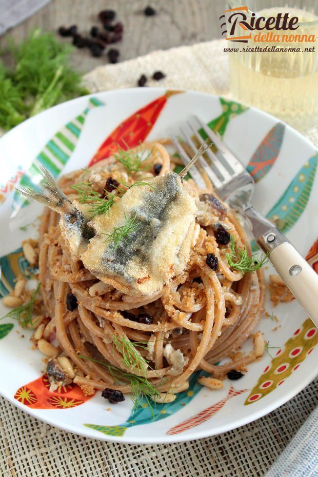
[[[276,351],[271,363],[266,366],[256,385],[251,390],[245,405],[259,401],[281,386],[296,371],[306,356],[318,343],[318,332],[308,318],[282,348],[275,349],[275,343],[268,346],[268,353]]]

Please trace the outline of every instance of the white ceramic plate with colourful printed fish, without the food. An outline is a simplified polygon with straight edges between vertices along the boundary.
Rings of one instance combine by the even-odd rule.
[[[193,113],[247,166],[256,182],[255,207],[279,223],[318,272],[314,146],[274,117],[222,97],[139,88],[77,98],[1,138],[0,293],[8,294],[19,273],[30,273],[21,243],[36,236],[33,221],[41,213],[41,207],[23,202],[15,186],[36,180],[39,164],[58,176],[97,162],[119,138],[135,146],[169,136]],[[8,309],[0,307],[2,316]],[[198,371],[173,403],[156,406],[153,418],[147,407],[132,413],[130,399],[111,405],[100,392],[85,398],[77,386],[50,393],[43,356],[31,349],[31,332],[6,318],[0,321],[0,393],[42,421],[94,439],[166,443],[225,432],[281,406],[317,374],[318,333],[300,305],[293,300],[273,308],[267,300],[266,311],[270,317],[264,316],[257,329],[264,332],[267,352],[242,379],[210,391],[197,384]]]

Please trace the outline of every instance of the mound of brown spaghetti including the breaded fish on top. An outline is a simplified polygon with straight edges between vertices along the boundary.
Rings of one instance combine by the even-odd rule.
[[[36,337],[55,345],[52,389],[73,381],[86,394],[106,389],[111,402],[122,400],[114,390],[162,402],[196,370],[222,380],[260,355],[239,349],[264,311],[262,264],[211,184],[199,190],[171,172],[180,160],[166,143],[63,176],[67,205],[52,203],[48,179],[51,195],[33,193],[51,201],[39,229],[46,319]]]

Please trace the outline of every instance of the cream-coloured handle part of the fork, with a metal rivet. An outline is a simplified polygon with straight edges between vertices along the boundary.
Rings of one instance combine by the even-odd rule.
[[[269,260],[318,327],[318,275],[290,243],[275,247]]]

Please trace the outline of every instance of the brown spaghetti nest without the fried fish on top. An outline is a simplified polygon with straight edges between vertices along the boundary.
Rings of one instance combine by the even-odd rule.
[[[135,194],[151,195],[156,181],[181,164],[168,153],[166,143],[122,151],[91,170],[63,176],[58,185],[72,204],[82,204],[81,210],[94,208],[94,204],[96,210],[96,201],[109,200],[118,208],[133,189],[138,189]],[[147,156],[142,157],[145,152]],[[52,386],[65,376],[87,394],[105,388],[130,393],[136,383],[146,383],[148,395],[156,394],[162,402],[159,393],[167,396],[187,389],[189,377],[198,369],[222,380],[233,369],[244,371],[262,353],[253,349],[244,355],[239,349],[264,311],[263,272],[257,267],[245,273],[231,267],[227,260],[227,254],[233,252],[231,244],[217,241],[221,230],[232,237],[232,247],[243,250],[246,246],[250,256],[246,232],[235,213],[215,196],[211,184],[207,182],[206,189],[199,190],[190,178],[182,187],[196,204],[193,227],[190,230],[188,225],[182,242],[184,248],[189,243],[189,250],[184,252],[182,268],[179,257],[177,272],[172,268],[170,275],[163,273],[163,286],[157,285],[159,282],[157,288],[149,285],[153,293],[143,293],[142,285],[132,285],[128,272],[127,285],[114,274],[103,275],[100,268],[94,273],[79,255],[74,260],[74,237],[68,243],[59,213],[45,209],[39,229],[39,281],[49,320],[43,335],[47,341],[56,338],[56,354],[62,357],[62,361],[57,357],[49,363]],[[111,210],[98,220],[104,220]],[[182,227],[182,217],[180,221]],[[120,235],[118,243],[129,248],[126,238]],[[95,237],[89,243],[93,240]],[[104,243],[110,247],[106,234]],[[213,257],[212,266],[207,256]],[[72,296],[76,299],[74,309],[68,303]],[[68,358],[69,372],[63,357]],[[226,358],[225,364],[215,365]],[[56,369],[61,371],[60,380]],[[143,388],[141,392],[147,394]]]

